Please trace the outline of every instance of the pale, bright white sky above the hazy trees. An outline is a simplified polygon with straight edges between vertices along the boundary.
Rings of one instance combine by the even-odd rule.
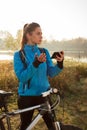
[[[0,0],[0,30],[38,22],[46,39],[87,38],[87,0]]]

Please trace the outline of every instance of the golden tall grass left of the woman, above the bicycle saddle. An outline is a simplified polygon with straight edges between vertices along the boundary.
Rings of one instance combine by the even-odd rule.
[[[13,63],[2,61],[0,64],[0,89],[16,91],[17,86],[18,81],[13,71]]]

